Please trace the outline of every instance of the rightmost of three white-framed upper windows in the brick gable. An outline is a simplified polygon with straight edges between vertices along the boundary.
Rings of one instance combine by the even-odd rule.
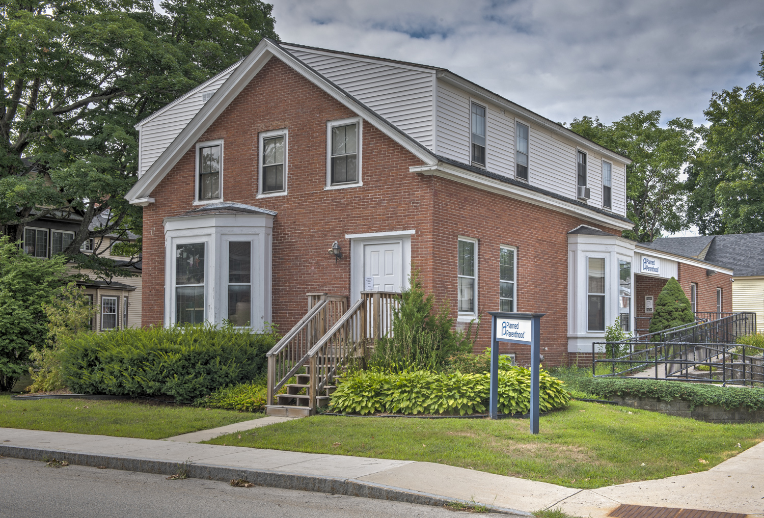
[[[329,188],[361,185],[361,119],[329,122],[326,140]]]

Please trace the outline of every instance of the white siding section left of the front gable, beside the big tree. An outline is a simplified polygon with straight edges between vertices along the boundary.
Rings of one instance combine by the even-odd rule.
[[[138,143],[141,148],[140,152],[140,164],[138,168],[138,175],[142,176],[151,164],[160,157],[160,155],[167,149],[167,146],[172,144],[175,138],[183,131],[183,128],[188,125],[194,115],[196,115],[202,106],[209,99],[203,99],[204,93],[215,92],[220,86],[225,83],[225,79],[231,76],[231,73],[236,70],[238,63],[224,70],[218,76],[213,77],[206,83],[202,83],[195,89],[186,93],[185,96],[178,98],[176,101],[171,102],[162,110],[155,112],[147,118],[146,121],[141,122],[141,130],[138,137]]]

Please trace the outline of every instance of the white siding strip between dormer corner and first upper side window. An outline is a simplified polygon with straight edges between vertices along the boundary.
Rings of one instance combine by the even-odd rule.
[[[470,99],[453,86],[438,83],[438,133],[435,153],[470,163]]]

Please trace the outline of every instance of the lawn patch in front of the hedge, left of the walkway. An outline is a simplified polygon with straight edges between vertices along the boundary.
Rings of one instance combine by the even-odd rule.
[[[87,408],[85,408],[87,406]],[[15,400],[0,394],[0,427],[164,439],[263,414],[120,400]]]

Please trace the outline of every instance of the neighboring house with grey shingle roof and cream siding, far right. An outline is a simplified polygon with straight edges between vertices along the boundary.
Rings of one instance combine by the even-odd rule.
[[[732,310],[756,313],[756,331],[764,332],[764,232],[705,235],[692,238],[659,238],[656,248],[682,250],[734,272]]]

